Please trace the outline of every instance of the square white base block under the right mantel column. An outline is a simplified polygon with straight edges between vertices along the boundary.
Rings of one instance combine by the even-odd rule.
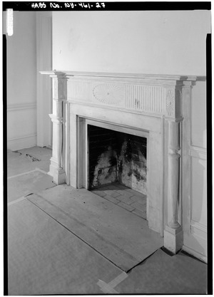
[[[183,229],[180,226],[178,229],[172,229],[165,226],[164,230],[164,247],[173,254],[178,253],[183,246]]]

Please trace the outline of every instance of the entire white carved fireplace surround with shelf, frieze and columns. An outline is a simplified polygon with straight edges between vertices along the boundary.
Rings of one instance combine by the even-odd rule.
[[[183,246],[181,132],[183,102],[196,76],[41,71],[53,83],[56,184],[88,189],[87,125],[147,138],[148,226],[176,253]]]

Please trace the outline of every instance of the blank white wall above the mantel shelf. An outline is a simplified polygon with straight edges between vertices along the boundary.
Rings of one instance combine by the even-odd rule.
[[[210,11],[53,12],[53,69],[205,75]]]

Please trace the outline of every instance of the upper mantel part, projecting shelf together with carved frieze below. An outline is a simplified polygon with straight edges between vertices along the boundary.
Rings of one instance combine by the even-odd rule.
[[[41,71],[53,78],[56,98],[83,105],[105,105],[128,113],[144,113],[168,118],[180,117],[183,85],[204,80],[194,75],[152,75]],[[176,93],[176,94],[175,94]],[[176,100],[175,100],[176,98]],[[176,106],[175,106],[176,105]]]

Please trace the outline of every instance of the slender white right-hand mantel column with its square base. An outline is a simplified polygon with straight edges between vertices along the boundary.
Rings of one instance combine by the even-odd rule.
[[[183,246],[183,228],[178,222],[180,204],[180,125],[182,100],[189,100],[195,80],[178,82],[175,92],[168,90],[166,97],[166,118],[168,121],[168,224],[165,225],[164,246],[176,254]]]

